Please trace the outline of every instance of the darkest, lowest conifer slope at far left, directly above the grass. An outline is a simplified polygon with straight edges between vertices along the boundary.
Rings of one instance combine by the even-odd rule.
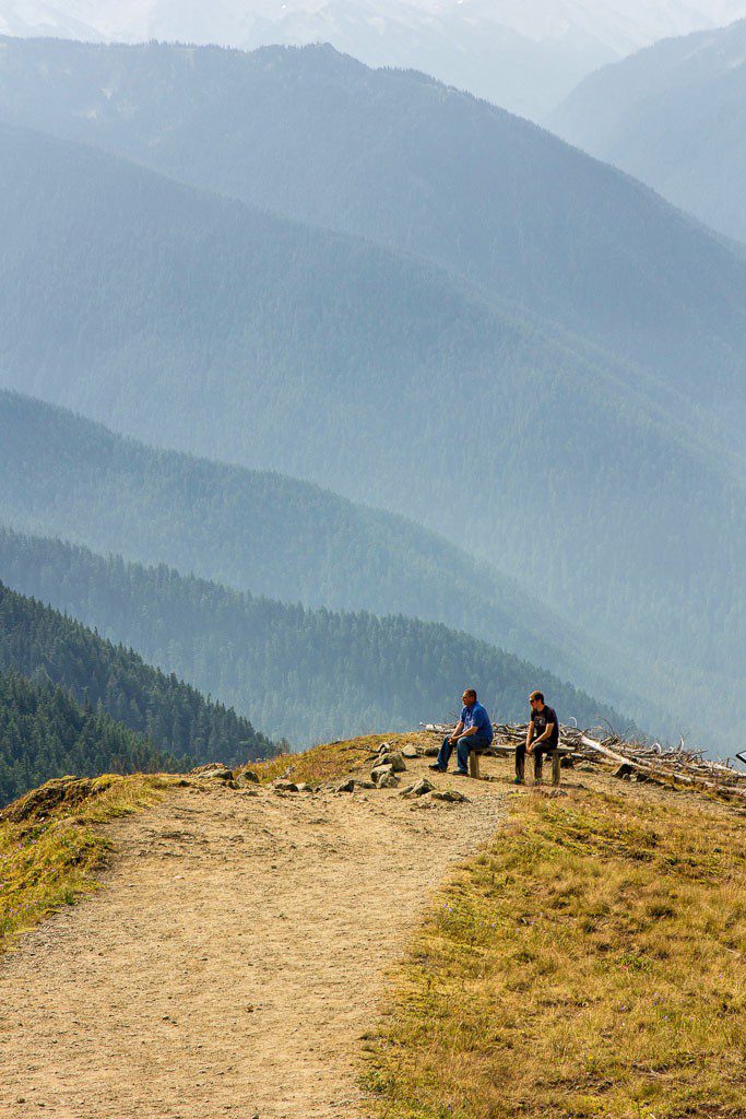
[[[0,673],[0,808],[67,773],[154,773],[178,764],[59,685]]]

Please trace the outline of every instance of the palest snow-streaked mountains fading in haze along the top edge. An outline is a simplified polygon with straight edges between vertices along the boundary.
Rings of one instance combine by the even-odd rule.
[[[745,15],[744,0],[0,0],[0,31],[244,49],[331,43],[532,116],[604,63]]]

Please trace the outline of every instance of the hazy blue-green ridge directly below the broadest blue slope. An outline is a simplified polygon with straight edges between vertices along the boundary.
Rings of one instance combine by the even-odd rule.
[[[0,432],[7,479],[0,517],[8,524],[147,564],[178,566],[255,595],[445,622],[587,680],[586,687],[618,696],[627,708],[641,705],[624,685],[616,690],[604,678],[583,636],[565,619],[518,584],[390,514],[277,474],[158,452],[1,392]],[[35,448],[30,455],[28,448]],[[1,538],[12,585],[54,596],[62,575],[49,585],[41,576],[38,584],[26,582],[31,556],[23,547],[17,551],[12,534]],[[62,556],[53,543],[45,546],[53,557],[43,567],[54,572],[70,565],[62,545]],[[85,567],[81,579],[87,581]],[[73,608],[69,598],[56,601]],[[267,609],[280,611],[276,602]],[[101,621],[93,611],[86,618]],[[251,692],[251,681],[245,686]]]

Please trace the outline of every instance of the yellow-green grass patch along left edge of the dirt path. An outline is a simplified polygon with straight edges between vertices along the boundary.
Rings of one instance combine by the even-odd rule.
[[[20,933],[95,888],[95,873],[111,849],[96,825],[154,803],[174,781],[107,774],[73,808],[0,822],[0,955]]]

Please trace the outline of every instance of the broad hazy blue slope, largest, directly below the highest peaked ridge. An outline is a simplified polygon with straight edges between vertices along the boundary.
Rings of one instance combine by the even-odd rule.
[[[104,153],[2,135],[6,383],[421,519],[632,648],[645,686],[680,688],[693,713],[701,678],[723,666],[729,687],[746,646],[739,449],[698,426],[681,396],[384,250]],[[8,451],[11,466],[36,445]],[[207,534],[205,504],[196,532]],[[235,510],[218,513],[233,534]],[[209,554],[221,547],[211,533]],[[272,548],[264,562],[276,568]],[[216,566],[200,574],[233,582]]]

